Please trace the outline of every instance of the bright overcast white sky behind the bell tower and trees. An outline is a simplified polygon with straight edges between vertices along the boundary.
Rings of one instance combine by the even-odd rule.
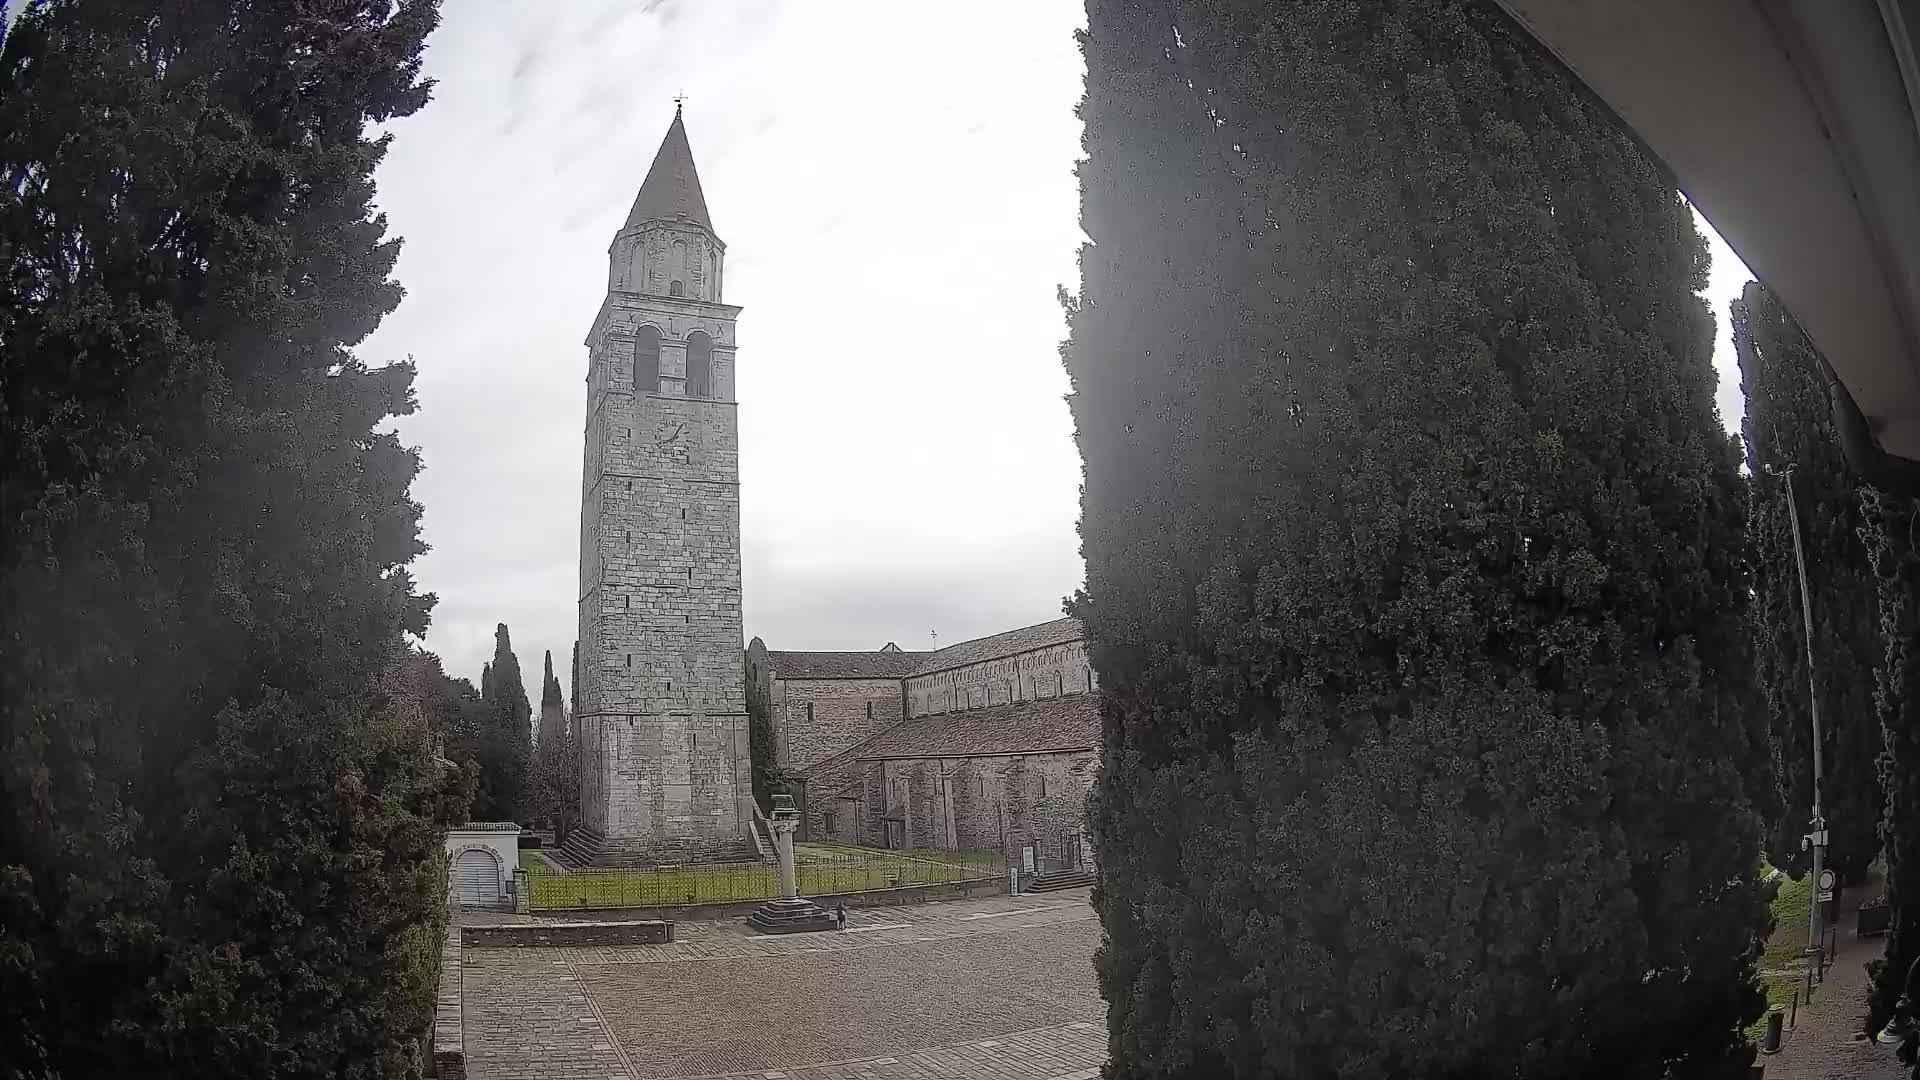
[[[1075,0],[455,0],[380,206],[419,361],[426,646],[532,694],[574,640],[582,338],[685,92],[739,319],[747,634],[916,650],[1052,619],[1081,582],[1056,286],[1077,281]],[[1715,238],[1711,302],[1745,281]],[[1738,375],[1722,363],[1722,415]]]

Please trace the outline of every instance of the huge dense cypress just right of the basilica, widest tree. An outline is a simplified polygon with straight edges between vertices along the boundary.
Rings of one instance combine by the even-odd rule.
[[[1768,782],[1672,184],[1492,6],[1092,0],[1110,1076],[1734,1076]]]

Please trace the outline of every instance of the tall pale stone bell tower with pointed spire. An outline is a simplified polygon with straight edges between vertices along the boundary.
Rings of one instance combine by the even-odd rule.
[[[588,332],[580,803],[593,863],[751,853],[726,244],[674,111]]]

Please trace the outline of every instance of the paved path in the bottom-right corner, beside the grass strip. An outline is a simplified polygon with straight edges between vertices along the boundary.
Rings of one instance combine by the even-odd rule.
[[[1766,1080],[1907,1080],[1893,1047],[1853,1038],[1866,1017],[1866,961],[1884,949],[1885,938],[1839,934],[1826,982],[1801,1003],[1780,1053],[1759,1057]]]

